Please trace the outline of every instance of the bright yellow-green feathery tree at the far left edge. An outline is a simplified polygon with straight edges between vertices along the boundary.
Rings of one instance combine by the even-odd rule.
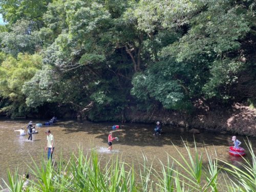
[[[26,115],[30,109],[26,106],[26,97],[22,92],[23,84],[30,80],[41,68],[41,56],[38,54],[18,54],[17,59],[7,56],[0,66],[0,95],[8,102],[1,112],[15,117]]]

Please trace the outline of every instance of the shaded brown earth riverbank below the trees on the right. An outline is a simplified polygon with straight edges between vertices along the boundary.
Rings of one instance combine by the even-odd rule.
[[[226,131],[233,134],[256,137],[256,110],[241,103],[236,103],[227,110],[209,110],[200,105],[193,114],[166,110],[154,110],[150,113],[127,111],[125,120],[131,122],[154,123],[185,126],[189,129],[207,129]]]

